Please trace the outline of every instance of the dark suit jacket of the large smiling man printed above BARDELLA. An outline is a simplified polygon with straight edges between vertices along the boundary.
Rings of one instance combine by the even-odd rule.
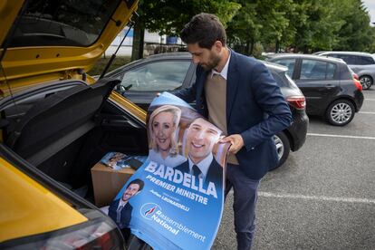
[[[190,171],[190,168],[188,168],[188,160],[178,165],[174,169],[178,169],[183,173],[188,173]],[[212,159],[211,163],[209,164],[204,187],[207,187],[210,181],[215,183],[216,190],[223,187],[223,168],[217,163],[216,159]]]

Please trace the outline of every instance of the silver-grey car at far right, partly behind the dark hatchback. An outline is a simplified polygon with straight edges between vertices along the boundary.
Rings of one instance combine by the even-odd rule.
[[[360,78],[363,90],[368,90],[375,80],[375,57],[371,53],[323,52],[321,56],[341,58]]]

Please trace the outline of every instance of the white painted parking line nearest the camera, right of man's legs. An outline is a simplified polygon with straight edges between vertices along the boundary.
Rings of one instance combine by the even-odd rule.
[[[355,197],[324,197],[324,196],[303,196],[294,194],[274,194],[269,192],[258,192],[259,197],[280,197],[280,198],[299,198],[299,199],[310,199],[318,201],[336,201],[346,203],[362,203],[362,204],[374,204],[375,199],[370,198],[355,198]]]

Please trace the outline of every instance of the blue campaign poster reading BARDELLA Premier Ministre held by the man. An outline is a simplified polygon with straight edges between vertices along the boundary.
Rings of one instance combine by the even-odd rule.
[[[152,101],[147,126],[149,156],[109,215],[154,249],[210,249],[224,207],[223,132],[168,92]]]

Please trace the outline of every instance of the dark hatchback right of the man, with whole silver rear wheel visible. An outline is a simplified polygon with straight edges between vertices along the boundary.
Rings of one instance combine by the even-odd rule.
[[[276,55],[269,61],[288,68],[288,75],[306,97],[308,115],[319,115],[334,126],[344,126],[361,110],[361,83],[341,59],[291,53]]]

